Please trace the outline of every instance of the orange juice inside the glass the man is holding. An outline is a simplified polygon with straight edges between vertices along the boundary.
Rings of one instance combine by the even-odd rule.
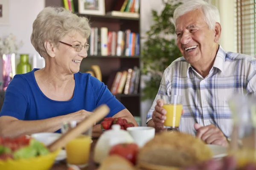
[[[179,127],[182,105],[164,104],[163,108],[166,110],[166,120],[164,121],[163,125],[176,128]]]

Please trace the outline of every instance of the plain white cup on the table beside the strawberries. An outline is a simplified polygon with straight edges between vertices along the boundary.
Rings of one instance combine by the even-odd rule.
[[[134,139],[134,142],[139,146],[143,147],[145,143],[154,138],[155,129],[154,127],[128,127],[126,129]]]

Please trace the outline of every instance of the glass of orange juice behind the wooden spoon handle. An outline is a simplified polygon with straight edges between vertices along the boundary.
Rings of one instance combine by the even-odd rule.
[[[61,132],[66,133],[70,128],[76,127],[77,122],[65,122],[61,127]],[[76,165],[78,167],[87,167],[90,156],[90,146],[92,136],[92,127],[82,133],[75,139],[72,139],[65,146],[67,152],[67,165]]]

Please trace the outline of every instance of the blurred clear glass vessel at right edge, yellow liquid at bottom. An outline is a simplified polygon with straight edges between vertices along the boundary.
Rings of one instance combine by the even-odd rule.
[[[239,166],[256,163],[256,98],[236,95],[229,101],[233,116],[233,132],[229,154]]]

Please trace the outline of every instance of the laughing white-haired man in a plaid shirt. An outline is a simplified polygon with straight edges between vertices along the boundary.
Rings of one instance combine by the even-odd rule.
[[[183,57],[164,71],[147,124],[163,130],[166,110],[160,94],[182,95],[184,114],[179,130],[207,144],[226,146],[232,132],[228,100],[236,93],[256,94],[256,59],[221,48],[218,9],[203,0],[179,6],[174,22]]]

